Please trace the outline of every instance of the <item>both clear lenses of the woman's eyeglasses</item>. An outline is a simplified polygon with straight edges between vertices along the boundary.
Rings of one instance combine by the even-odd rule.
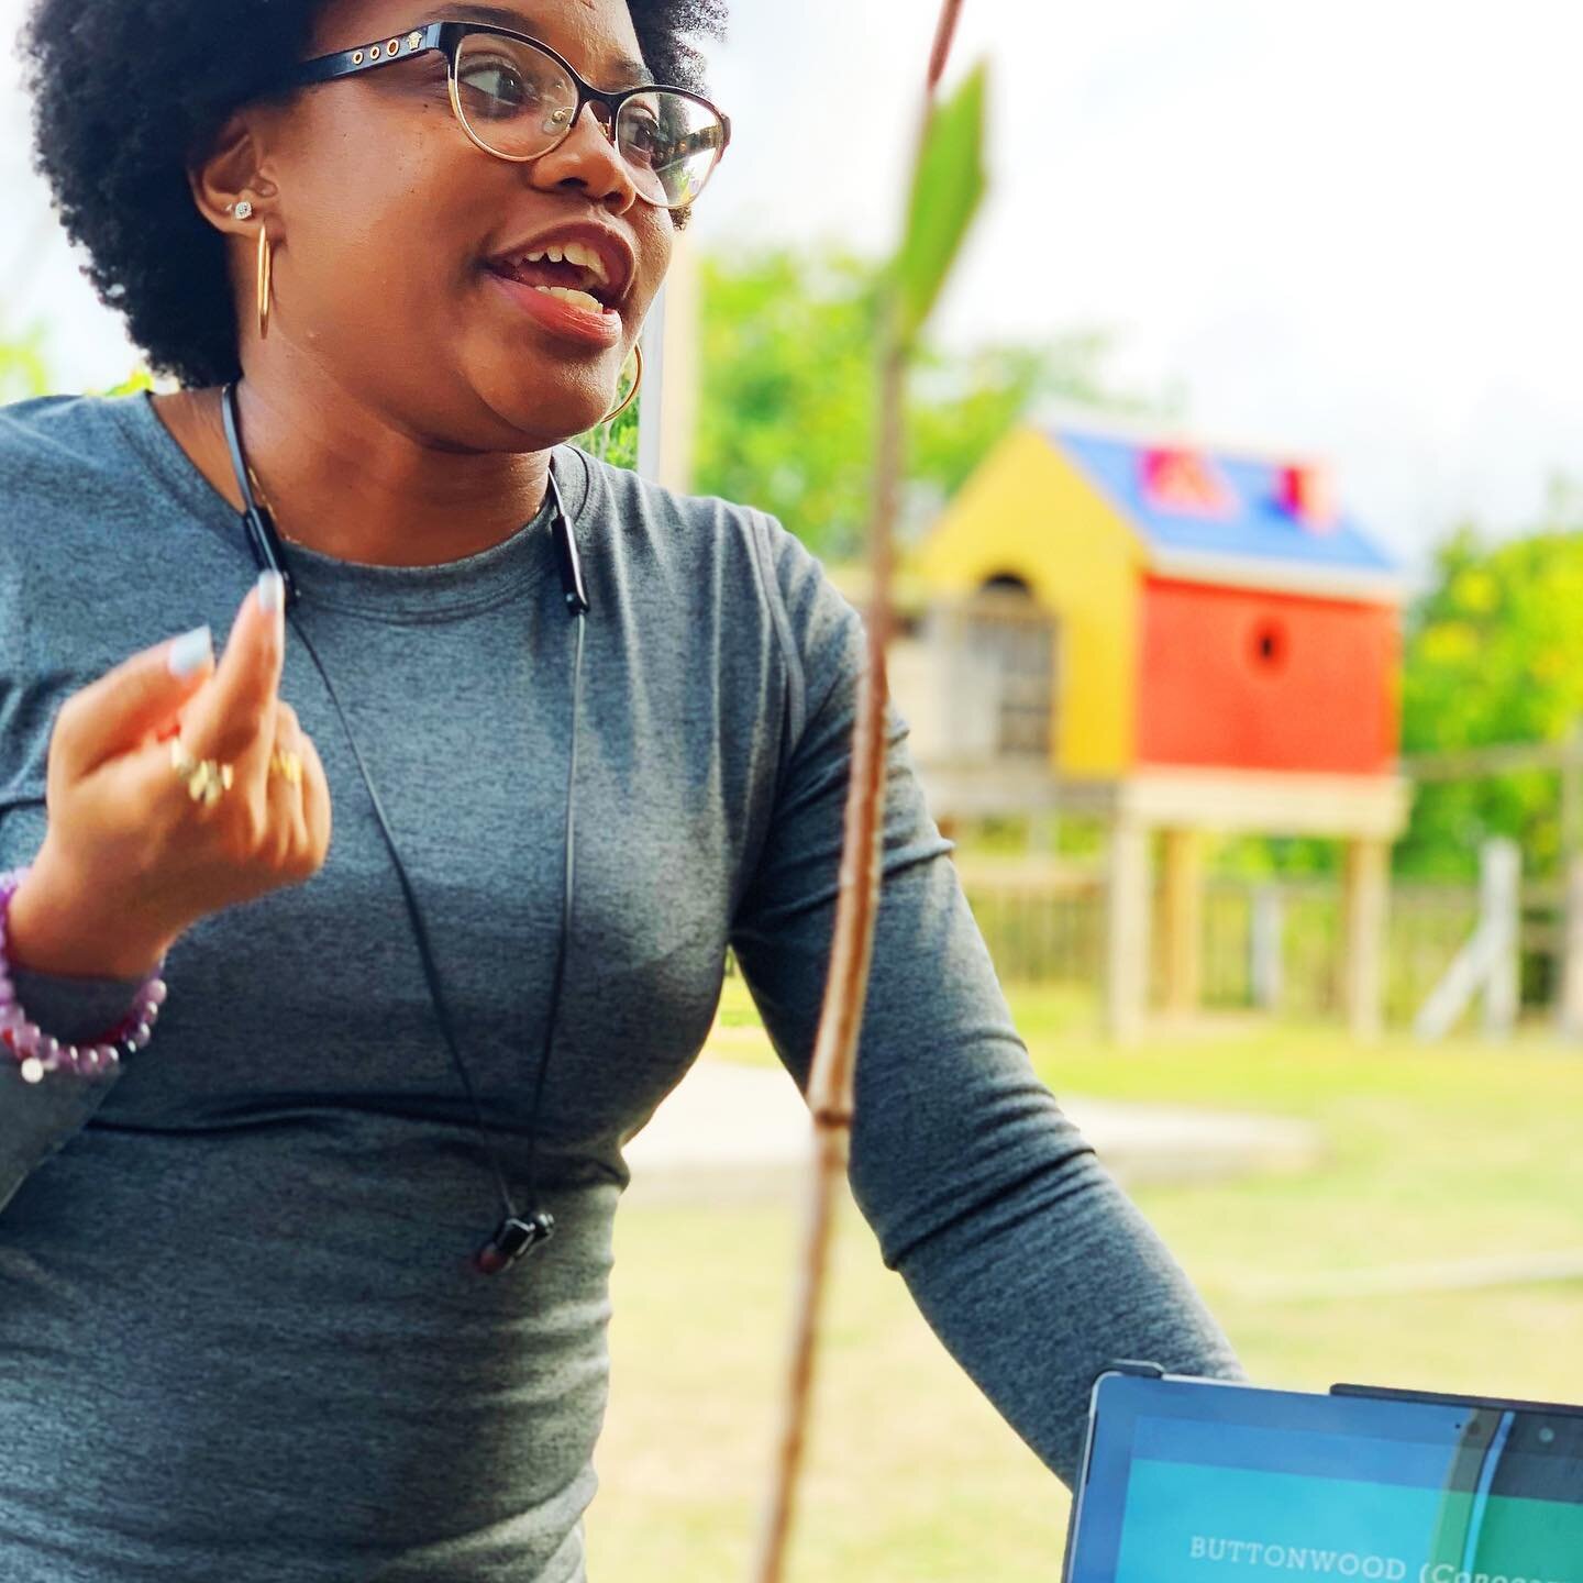
[[[469,33],[456,55],[456,98],[469,131],[508,160],[548,154],[567,136],[576,84],[532,44]],[[725,128],[708,104],[684,93],[640,93],[616,116],[616,147],[651,203],[692,203],[709,179]]]

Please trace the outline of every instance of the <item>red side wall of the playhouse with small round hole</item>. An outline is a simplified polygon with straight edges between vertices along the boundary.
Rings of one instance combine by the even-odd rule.
[[[1396,611],[1143,579],[1138,761],[1384,774]]]

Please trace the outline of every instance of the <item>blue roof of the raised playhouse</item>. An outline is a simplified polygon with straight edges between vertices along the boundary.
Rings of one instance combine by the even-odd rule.
[[[1282,503],[1282,464],[1277,461],[1197,451],[1225,486],[1225,510],[1171,510],[1151,499],[1146,467],[1151,454],[1179,446],[1065,426],[1048,429],[1046,437],[1133,524],[1154,552],[1232,556],[1279,564],[1287,573],[1308,568],[1315,576],[1393,576],[1401,570],[1347,511],[1323,530],[1301,522]]]

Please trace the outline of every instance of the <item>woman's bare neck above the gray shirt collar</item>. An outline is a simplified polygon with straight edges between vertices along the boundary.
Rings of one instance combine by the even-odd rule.
[[[220,391],[154,397],[173,438],[241,511]],[[293,543],[380,567],[432,567],[510,538],[545,500],[549,451],[461,451],[336,393],[237,386],[247,462]]]

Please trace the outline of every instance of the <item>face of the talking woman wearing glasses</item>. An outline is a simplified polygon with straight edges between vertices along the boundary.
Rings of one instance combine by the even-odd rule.
[[[598,87],[646,78],[622,65],[640,59],[625,0],[440,0],[435,9],[331,0],[310,49],[353,49],[442,17],[527,33]],[[282,337],[315,377],[448,448],[540,450],[609,410],[670,264],[673,222],[636,195],[590,108],[552,152],[521,165],[494,158],[453,116],[445,59],[431,51],[255,114],[255,201],[277,244],[263,355]],[[533,277],[508,258],[587,223],[605,228],[617,260],[602,294],[614,290],[619,317],[603,326],[597,315],[568,323],[554,299],[507,279]],[[250,375],[268,367],[260,348],[253,364]]]

